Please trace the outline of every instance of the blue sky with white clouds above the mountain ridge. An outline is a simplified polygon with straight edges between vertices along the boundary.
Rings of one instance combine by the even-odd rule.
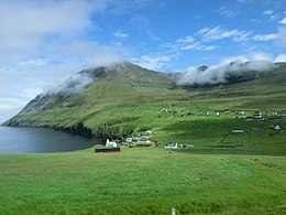
[[[0,122],[76,72],[286,61],[286,0],[1,0]]]

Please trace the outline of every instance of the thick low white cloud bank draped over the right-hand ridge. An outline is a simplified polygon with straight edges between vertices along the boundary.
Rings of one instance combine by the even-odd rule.
[[[227,84],[231,80],[252,79],[261,72],[274,68],[274,62],[268,57],[245,57],[223,61],[220,65],[190,67],[177,80],[178,85]]]

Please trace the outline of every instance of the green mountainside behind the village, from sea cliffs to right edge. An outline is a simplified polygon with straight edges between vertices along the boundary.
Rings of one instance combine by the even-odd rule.
[[[52,127],[102,139],[124,139],[151,129],[156,133],[148,138],[161,146],[174,140],[199,151],[205,147],[221,151],[222,144],[234,153],[286,153],[286,133],[273,130],[275,125],[286,128],[285,116],[277,115],[286,109],[285,64],[257,79],[196,88],[176,87],[175,75],[130,63],[81,73],[94,78],[84,90],[38,96],[7,125]],[[162,108],[167,111],[160,112]],[[224,114],[226,109],[232,112]],[[263,120],[245,121],[255,110]],[[230,135],[232,129],[244,133]]]

